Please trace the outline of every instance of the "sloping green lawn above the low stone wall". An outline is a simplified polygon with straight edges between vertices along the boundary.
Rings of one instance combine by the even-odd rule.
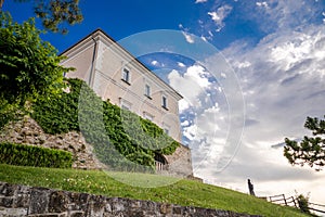
[[[139,188],[119,182],[116,179],[138,180],[132,182],[135,186],[143,186],[144,182],[147,182],[148,186],[161,186],[165,181],[170,181],[172,184],[158,188]],[[226,209],[262,216],[304,216],[298,209],[271,204],[236,191],[193,180],[178,181],[174,178],[156,175],[123,173],[109,173],[107,175],[104,171],[94,170],[20,167],[0,164],[0,180],[9,183]]]

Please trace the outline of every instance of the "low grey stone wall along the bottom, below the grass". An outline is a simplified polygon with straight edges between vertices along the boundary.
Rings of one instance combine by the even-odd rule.
[[[32,188],[0,182],[0,216],[3,217],[180,217],[250,216],[174,204],[155,203],[86,193]]]

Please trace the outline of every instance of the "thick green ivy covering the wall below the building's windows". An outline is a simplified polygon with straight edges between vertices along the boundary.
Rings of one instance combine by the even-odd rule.
[[[38,100],[31,117],[48,133],[81,131],[110,169],[154,171],[155,154],[172,154],[180,145],[152,122],[102,101],[84,81],[67,82],[69,93]]]

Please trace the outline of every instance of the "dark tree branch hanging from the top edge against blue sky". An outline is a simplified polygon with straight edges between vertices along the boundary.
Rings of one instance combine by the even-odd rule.
[[[25,2],[30,0],[14,0]],[[4,0],[0,0],[0,12]],[[83,16],[79,9],[79,0],[35,0],[34,12],[42,22],[46,29],[66,34],[64,24],[74,25],[81,23]]]

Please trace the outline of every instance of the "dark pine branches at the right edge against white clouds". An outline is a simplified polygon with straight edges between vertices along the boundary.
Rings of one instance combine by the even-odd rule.
[[[321,170],[325,165],[325,119],[307,117],[304,127],[310,129],[313,136],[304,136],[300,142],[285,138],[284,155],[292,165],[308,164]]]

